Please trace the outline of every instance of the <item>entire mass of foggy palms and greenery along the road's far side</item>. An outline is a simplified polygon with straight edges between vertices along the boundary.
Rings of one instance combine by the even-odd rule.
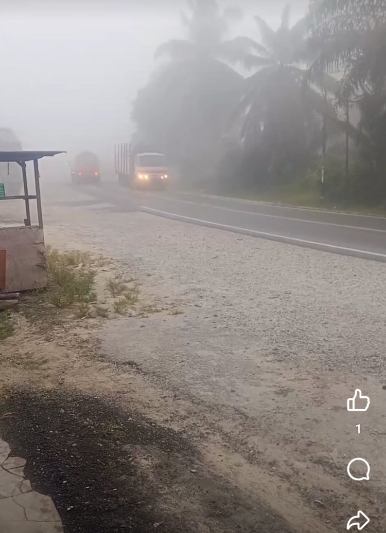
[[[256,4],[255,35],[230,40],[239,10],[190,5],[138,92],[135,139],[185,189],[386,213],[386,3],[310,0],[277,28]]]

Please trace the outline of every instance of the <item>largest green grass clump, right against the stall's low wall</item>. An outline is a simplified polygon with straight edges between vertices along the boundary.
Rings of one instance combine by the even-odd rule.
[[[49,249],[46,259],[49,300],[53,305],[66,308],[74,303],[96,301],[97,295],[93,291],[96,272],[85,266],[89,262],[88,254]]]

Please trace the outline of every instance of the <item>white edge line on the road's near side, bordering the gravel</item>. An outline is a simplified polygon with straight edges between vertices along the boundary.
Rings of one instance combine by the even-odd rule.
[[[191,222],[201,222],[203,224],[208,224],[211,227],[219,228],[219,229],[227,229],[227,230],[234,230],[234,231],[245,231],[248,233],[252,233],[253,235],[259,235],[262,237],[273,237],[274,239],[283,239],[285,241],[293,242],[293,243],[302,243],[302,244],[310,244],[313,246],[323,246],[325,248],[332,248],[335,250],[341,250],[343,252],[353,252],[357,254],[364,254],[364,255],[371,255],[374,257],[383,257],[383,259],[386,259],[386,254],[379,254],[376,252],[368,252],[366,250],[358,250],[356,248],[346,248],[344,246],[336,246],[334,244],[327,244],[327,243],[316,243],[312,240],[305,240],[305,239],[296,239],[295,237],[287,237],[285,235],[275,235],[274,233],[266,233],[264,231],[256,231],[256,230],[250,230],[248,228],[238,228],[237,226],[229,226],[227,224],[219,224],[217,222],[210,222],[209,220],[201,220],[201,219],[193,219],[190,216],[183,216],[183,215],[177,215],[176,213],[168,213],[166,211],[160,211],[159,209],[153,209],[152,207],[146,207],[146,206],[139,206],[139,209],[144,212],[151,212],[151,213],[160,213],[162,215],[167,216],[174,216],[177,219],[184,219]]]

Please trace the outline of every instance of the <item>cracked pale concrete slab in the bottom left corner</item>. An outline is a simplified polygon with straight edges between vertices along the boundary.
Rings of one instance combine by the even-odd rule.
[[[63,533],[51,498],[33,490],[26,479],[25,459],[10,454],[0,439],[0,533]]]

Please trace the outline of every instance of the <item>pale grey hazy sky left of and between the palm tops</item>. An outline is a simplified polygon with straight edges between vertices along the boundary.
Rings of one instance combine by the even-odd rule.
[[[220,5],[240,5],[274,26],[287,3]],[[296,20],[308,2],[289,3]],[[11,127],[30,149],[112,154],[115,141],[129,140],[131,102],[155,65],[156,46],[183,37],[183,0],[2,0],[2,8],[0,126]],[[245,16],[233,34],[256,37],[253,19]]]

